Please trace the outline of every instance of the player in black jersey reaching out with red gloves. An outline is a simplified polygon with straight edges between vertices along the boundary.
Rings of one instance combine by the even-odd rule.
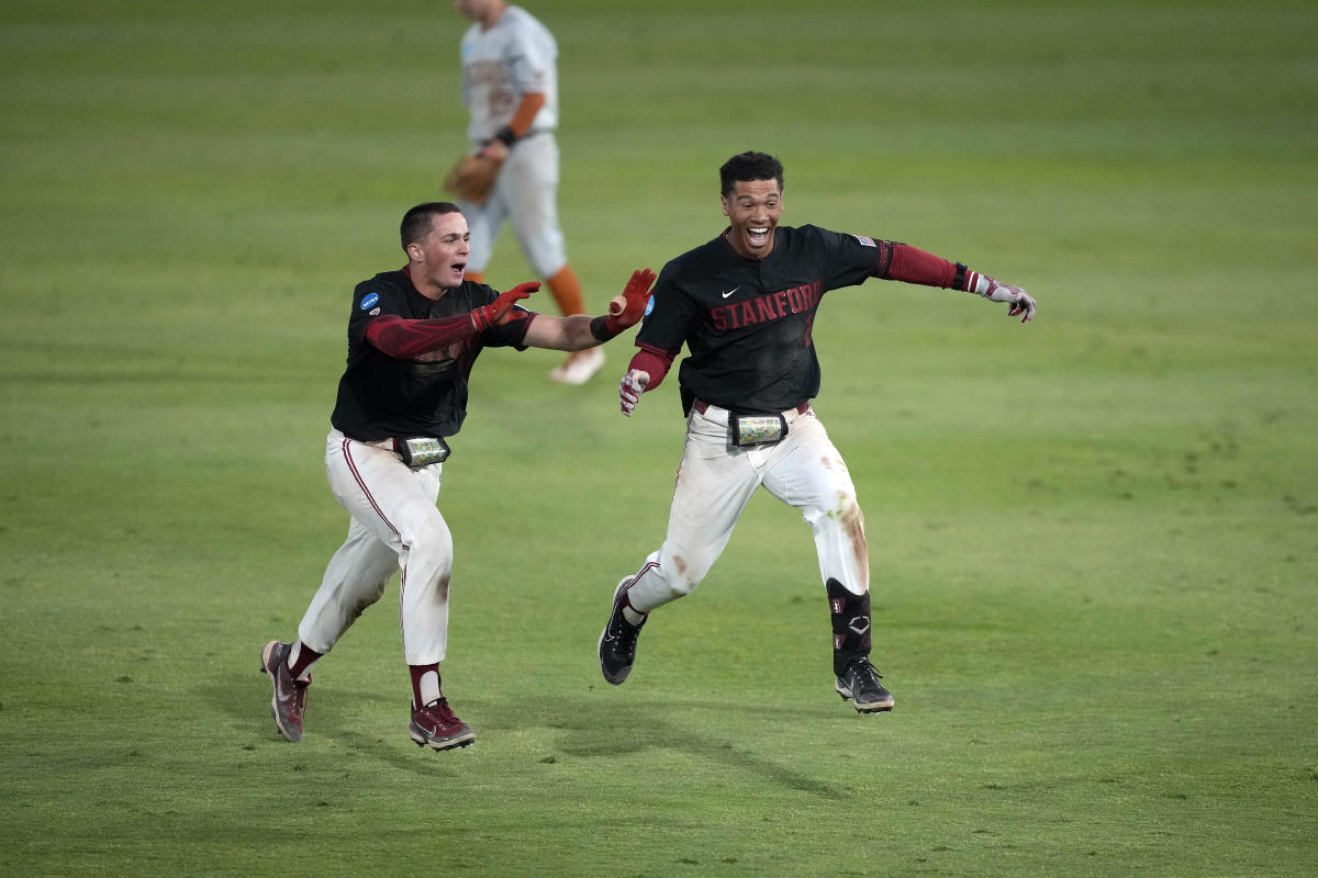
[[[330,487],[352,516],[348,538],[331,558],[298,638],[261,650],[261,670],[274,686],[270,713],[290,741],[302,740],[312,665],[380,600],[395,569],[413,684],[409,735],[436,750],[476,740],[440,691],[453,541],[435,508],[447,440],[467,416],[472,366],[485,348],[593,348],[641,319],[654,283],[648,269],[634,272],[609,316],[547,317],[517,305],[539,283],[498,294],[463,278],[471,246],[456,204],[418,204],[399,232],[407,265],[353,291],[348,366],[326,441]]]

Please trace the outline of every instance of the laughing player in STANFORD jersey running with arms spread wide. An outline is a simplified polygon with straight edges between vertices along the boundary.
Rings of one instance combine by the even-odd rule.
[[[600,670],[619,684],[648,613],[700,584],[728,545],[755,488],[801,511],[815,532],[833,619],[836,690],[857,711],[892,710],[870,663],[870,569],[865,519],[842,455],[811,408],[820,387],[812,326],[824,294],[869,278],[974,292],[1033,319],[1035,300],[933,254],[813,225],[779,226],[783,166],[742,153],[720,170],[728,228],[664,266],[641,349],[619,384],[622,412],[677,375],[687,444],[668,533],[641,570],[618,583],[600,634]]]

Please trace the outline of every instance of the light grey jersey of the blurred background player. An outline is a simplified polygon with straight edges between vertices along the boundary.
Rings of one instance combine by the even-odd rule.
[[[463,103],[471,113],[467,137],[473,143],[494,138],[513,120],[522,97],[544,95],[544,107],[527,134],[559,124],[559,46],[540,21],[521,7],[509,7],[494,26],[474,22],[463,34]]]

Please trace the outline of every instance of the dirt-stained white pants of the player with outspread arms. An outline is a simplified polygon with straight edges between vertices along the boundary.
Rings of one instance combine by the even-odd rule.
[[[627,586],[634,609],[650,612],[691,594],[728,546],[759,486],[800,509],[809,523],[821,582],[837,579],[857,595],[869,591],[865,516],[851,474],[813,411],[783,415],[788,432],[782,442],[734,448],[728,438],[726,409],[692,409],[668,533]]]

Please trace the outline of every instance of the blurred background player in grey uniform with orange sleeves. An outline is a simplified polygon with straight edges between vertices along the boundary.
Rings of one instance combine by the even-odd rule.
[[[453,0],[473,20],[463,34],[463,103],[473,150],[500,166],[486,199],[459,199],[472,228],[468,276],[482,280],[505,220],[564,315],[584,312],[581,284],[568,265],[558,217],[558,43],[550,30],[505,0]],[[550,378],[583,384],[604,366],[596,348],[571,354]]]

